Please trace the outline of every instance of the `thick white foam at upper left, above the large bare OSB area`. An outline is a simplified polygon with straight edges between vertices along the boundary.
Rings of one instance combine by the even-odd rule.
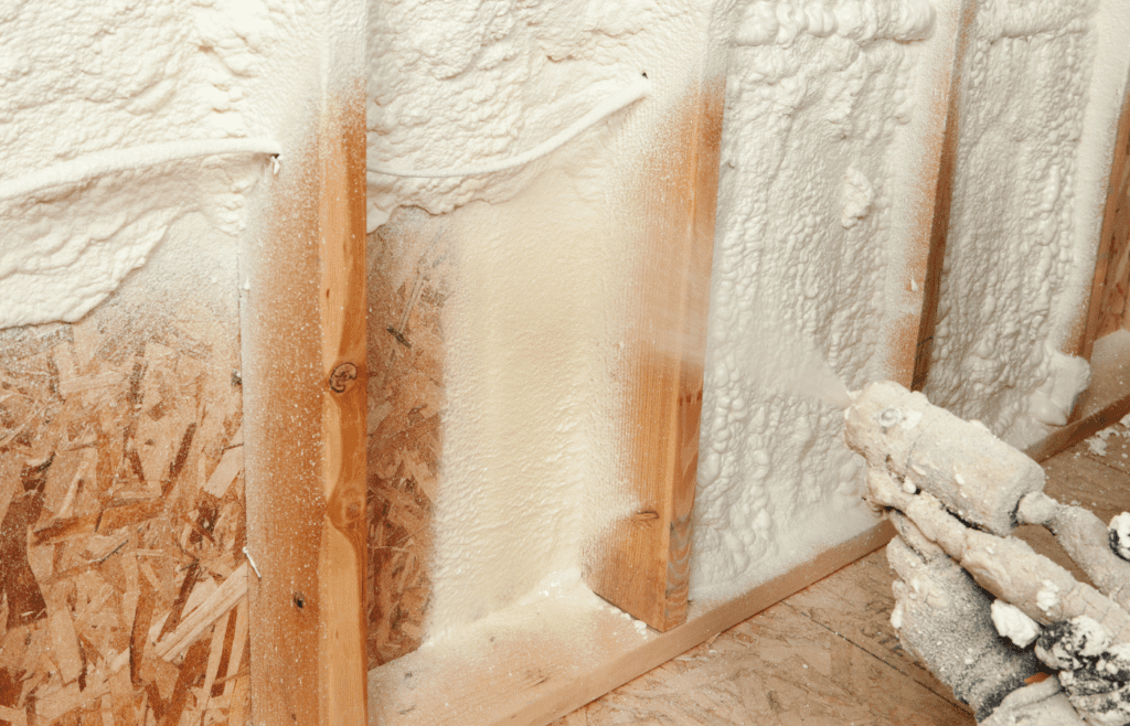
[[[174,225],[197,228],[176,237],[195,242],[176,251],[186,278],[214,265],[212,245],[237,246],[268,167],[189,157],[293,149],[323,70],[319,12],[282,0],[0,12],[11,51],[0,58],[0,327],[80,318]],[[183,282],[172,274],[169,289]]]

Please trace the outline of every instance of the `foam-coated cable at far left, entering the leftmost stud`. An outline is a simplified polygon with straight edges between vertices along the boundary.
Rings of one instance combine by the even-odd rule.
[[[142,169],[168,161],[220,154],[278,156],[281,150],[278,142],[271,139],[201,139],[149,143],[128,149],[107,149],[12,180],[0,180],[0,200],[26,196],[52,186],[81,184],[106,174]]]

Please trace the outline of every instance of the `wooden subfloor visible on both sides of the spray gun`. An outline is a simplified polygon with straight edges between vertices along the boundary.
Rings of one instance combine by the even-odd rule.
[[[1130,429],[1113,428],[1105,453],[1089,439],[1043,464],[1049,495],[1103,522],[1130,509]],[[1023,530],[1038,551],[1069,563],[1051,535]],[[892,580],[885,550],[873,552],[553,726],[974,724],[899,647]]]

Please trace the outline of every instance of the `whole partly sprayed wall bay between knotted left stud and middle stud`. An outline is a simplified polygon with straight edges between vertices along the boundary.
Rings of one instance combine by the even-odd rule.
[[[380,548],[399,541],[411,550],[412,517],[397,514],[399,502],[409,492],[426,499],[399,511],[434,521],[434,551],[420,553],[431,580],[414,575],[405,584],[405,602],[429,591],[433,633],[512,603],[547,577],[577,577],[584,543],[631,510],[615,463],[627,448],[617,434],[626,286],[647,254],[636,190],[653,183],[643,178],[649,168],[663,168],[651,155],[662,154],[664,124],[690,107],[704,73],[720,80],[721,63],[707,70],[705,56],[727,11],[727,3],[681,2],[372,6],[371,167],[442,172],[504,160],[644,73],[649,88],[514,172],[370,176],[371,245],[395,251],[371,257],[388,270],[371,278],[392,315],[370,324],[371,344],[382,350],[374,369],[390,370],[371,383],[374,530]],[[423,292],[409,305],[416,280]],[[385,305],[388,295],[394,304]],[[415,317],[429,309],[438,318]],[[405,333],[401,321],[408,333],[393,342],[389,330]],[[683,343],[661,327],[651,331],[657,344]],[[436,343],[442,356],[420,348]],[[418,395],[401,373],[414,362],[442,370],[442,395],[420,396],[417,406],[418,420],[434,420],[426,451],[416,437],[393,436],[412,422],[393,388]],[[376,577],[397,586],[395,572],[415,568],[416,557],[376,551]],[[381,585],[374,591],[380,598]],[[394,616],[374,613],[373,622],[381,629]]]

